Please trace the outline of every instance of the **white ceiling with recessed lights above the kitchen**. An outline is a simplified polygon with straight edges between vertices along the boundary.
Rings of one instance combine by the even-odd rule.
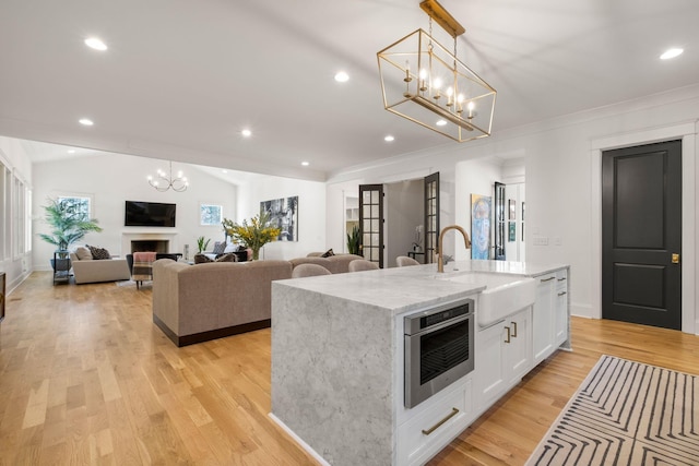
[[[418,4],[0,0],[0,134],[313,180],[453,146],[382,106],[376,52],[428,28]],[[441,4],[466,28],[459,57],[498,91],[494,136],[699,82],[697,0]],[[659,60],[668,47],[685,53]]]

